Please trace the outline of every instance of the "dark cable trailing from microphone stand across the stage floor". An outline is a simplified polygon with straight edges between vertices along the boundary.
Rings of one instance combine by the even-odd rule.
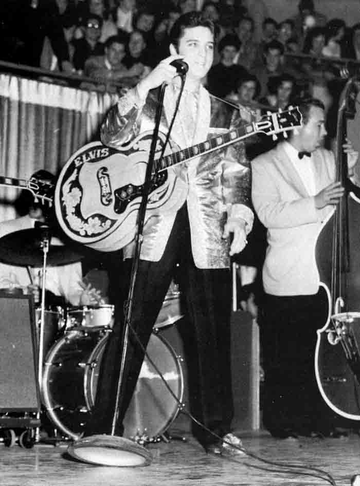
[[[231,442],[224,440],[223,437],[220,437],[219,435],[215,434],[213,431],[210,431],[210,429],[207,428],[205,424],[201,423],[199,420],[197,420],[195,417],[193,417],[193,415],[189,412],[189,410],[187,410],[185,408],[184,403],[182,403],[177,398],[177,396],[174,394],[173,390],[170,388],[168,382],[164,378],[163,373],[161,373],[161,371],[158,369],[158,367],[156,366],[154,361],[149,356],[145,347],[142,345],[142,343],[141,343],[137,333],[135,332],[134,328],[132,327],[131,323],[128,323],[128,325],[129,325],[131,332],[133,333],[133,336],[134,336],[136,342],[140,346],[142,352],[145,354],[150,365],[155,369],[155,371],[158,374],[158,376],[160,377],[161,381],[163,381],[164,385],[166,386],[166,388],[170,392],[170,395],[173,397],[173,399],[178,404],[180,412],[187,415],[194,423],[199,425],[204,431],[210,433],[215,439],[221,440],[221,441],[227,443],[229,446],[231,446],[235,449],[238,449],[242,453],[246,454],[248,457],[256,459],[257,461],[264,462],[265,464],[269,464],[269,465],[272,465],[272,466],[276,466],[277,468],[286,468],[286,470],[262,468],[261,466],[257,466],[255,464],[249,464],[249,463],[245,464],[244,462],[242,462],[242,464],[245,464],[250,468],[261,469],[261,470],[268,471],[268,472],[274,472],[274,473],[280,473],[280,474],[296,474],[296,475],[299,475],[299,476],[312,476],[312,477],[316,477],[318,479],[322,479],[322,480],[330,483],[332,486],[337,486],[335,479],[327,471],[324,471],[324,470],[319,469],[319,468],[315,468],[315,466],[307,466],[305,464],[292,464],[292,463],[281,463],[281,462],[276,462],[276,461],[269,461],[269,460],[264,459],[264,458],[254,454],[254,453],[249,452],[245,447],[240,447],[240,446],[232,444]],[[221,457],[226,458],[226,459],[235,459],[236,462],[239,462],[239,461],[236,460],[236,456],[221,456]],[[302,470],[302,471],[299,471],[299,470]],[[309,472],[305,472],[305,471],[309,471]],[[310,471],[314,471],[314,472],[311,473]],[[318,473],[318,474],[315,474],[315,473]]]

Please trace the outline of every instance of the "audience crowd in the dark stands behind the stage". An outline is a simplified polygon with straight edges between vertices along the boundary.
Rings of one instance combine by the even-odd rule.
[[[173,23],[197,5],[196,0],[5,0],[0,60],[96,80],[84,88],[134,86],[167,57]],[[341,76],[357,70],[360,24],[326,18],[314,0],[300,0],[297,7],[293,18],[278,23],[263,0],[203,2],[201,10],[218,26],[214,64],[204,80],[211,94],[240,102],[251,74],[260,89],[247,105],[284,108],[314,89],[327,108],[336,102]]]

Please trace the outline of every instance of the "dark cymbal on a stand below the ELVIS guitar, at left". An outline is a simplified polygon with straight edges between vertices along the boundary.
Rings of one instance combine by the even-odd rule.
[[[43,230],[40,228],[14,231],[3,236],[0,238],[0,260],[9,265],[42,267],[42,237]],[[59,238],[51,237],[46,257],[47,265],[67,265],[82,258],[84,254],[80,252],[79,246],[65,246]]]

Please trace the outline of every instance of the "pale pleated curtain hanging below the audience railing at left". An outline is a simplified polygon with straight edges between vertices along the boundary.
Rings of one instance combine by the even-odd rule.
[[[0,74],[0,176],[57,174],[82,145],[99,140],[99,126],[117,95]],[[0,221],[16,216],[19,190],[0,187]]]

